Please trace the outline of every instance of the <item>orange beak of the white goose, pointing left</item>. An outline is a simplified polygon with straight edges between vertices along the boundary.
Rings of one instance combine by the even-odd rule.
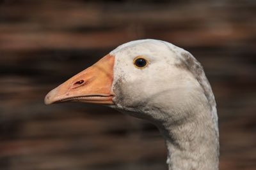
[[[45,96],[45,104],[65,101],[113,104],[113,66],[115,57],[106,55],[93,66],[76,74]]]

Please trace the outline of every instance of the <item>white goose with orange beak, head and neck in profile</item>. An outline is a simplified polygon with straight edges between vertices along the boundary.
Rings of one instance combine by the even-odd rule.
[[[118,46],[51,90],[45,104],[79,101],[143,118],[161,132],[169,170],[216,170],[216,102],[201,64],[188,51],[157,39]]]

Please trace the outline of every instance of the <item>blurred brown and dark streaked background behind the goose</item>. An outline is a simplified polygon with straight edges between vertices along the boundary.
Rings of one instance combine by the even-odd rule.
[[[134,39],[163,39],[205,68],[220,169],[256,169],[256,1],[0,3],[0,169],[167,169],[147,122],[103,106],[44,105],[70,76]]]

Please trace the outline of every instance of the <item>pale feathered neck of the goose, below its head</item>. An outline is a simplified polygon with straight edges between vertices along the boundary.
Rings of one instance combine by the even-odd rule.
[[[218,170],[218,125],[211,111],[197,108],[189,115],[176,121],[164,118],[157,125],[168,149],[169,170]]]

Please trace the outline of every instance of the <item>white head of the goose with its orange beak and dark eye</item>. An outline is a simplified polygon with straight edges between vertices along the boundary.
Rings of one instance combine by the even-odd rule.
[[[187,114],[184,110],[193,107],[195,100],[206,97],[197,75],[189,70],[188,64],[192,64],[189,60],[195,58],[165,41],[131,41],[49,92],[45,103],[106,104],[153,122],[165,117],[173,120],[188,117],[180,114]],[[161,115],[154,111],[159,109],[168,111]]]

